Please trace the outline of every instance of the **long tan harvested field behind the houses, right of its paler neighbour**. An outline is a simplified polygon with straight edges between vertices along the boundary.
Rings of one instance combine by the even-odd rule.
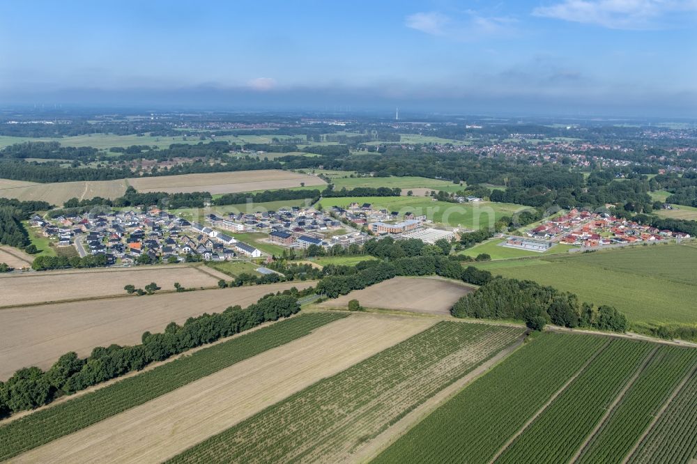
[[[128,179],[128,182],[139,192],[210,192],[210,194],[286,189],[300,187],[300,183],[326,184],[317,176],[280,169],[141,177]]]

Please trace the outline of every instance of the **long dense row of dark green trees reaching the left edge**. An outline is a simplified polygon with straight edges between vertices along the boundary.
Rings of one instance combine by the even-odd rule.
[[[236,305],[222,313],[189,318],[183,325],[173,322],[162,333],[145,332],[137,346],[98,347],[85,359],[66,353],[46,372],[38,367],[20,369],[6,382],[0,382],[0,417],[37,408],[59,396],[143,369],[151,362],[296,314],[300,310],[297,295],[293,288],[266,295],[246,309]]]

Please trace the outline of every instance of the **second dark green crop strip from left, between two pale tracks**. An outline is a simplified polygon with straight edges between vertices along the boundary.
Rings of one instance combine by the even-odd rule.
[[[567,462],[653,348],[639,341],[611,341],[496,462]]]

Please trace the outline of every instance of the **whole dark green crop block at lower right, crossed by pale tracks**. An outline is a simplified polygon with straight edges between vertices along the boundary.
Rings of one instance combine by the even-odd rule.
[[[694,348],[545,332],[441,405],[374,462],[620,463],[641,441],[630,462],[651,448],[670,449],[667,461],[687,463],[697,451],[697,385],[681,387],[695,380],[696,369]],[[680,394],[671,401],[676,390]],[[685,392],[691,398],[679,401]],[[670,405],[661,414],[666,401]],[[664,420],[675,427],[659,439],[673,440],[671,446],[649,447],[643,440],[649,427],[649,436],[659,434],[651,425],[655,414],[655,424]],[[638,462],[667,462],[666,456]]]

